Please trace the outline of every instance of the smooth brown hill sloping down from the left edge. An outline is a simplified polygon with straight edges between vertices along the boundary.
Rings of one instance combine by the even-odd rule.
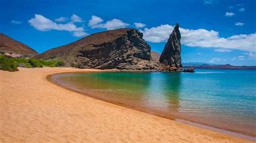
[[[15,54],[16,56],[35,56],[38,53],[7,35],[0,33],[0,52]]]

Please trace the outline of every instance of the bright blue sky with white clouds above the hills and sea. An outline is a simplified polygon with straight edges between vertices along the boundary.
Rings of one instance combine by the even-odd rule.
[[[255,66],[255,8],[254,0],[1,1],[0,32],[42,53],[92,33],[132,27],[161,53],[179,23],[183,62]]]

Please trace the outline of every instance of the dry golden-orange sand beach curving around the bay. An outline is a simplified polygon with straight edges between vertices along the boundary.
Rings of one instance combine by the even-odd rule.
[[[60,88],[46,75],[71,68],[0,71],[0,142],[246,142]]]

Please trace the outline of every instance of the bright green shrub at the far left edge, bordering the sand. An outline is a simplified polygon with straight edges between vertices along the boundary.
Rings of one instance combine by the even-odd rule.
[[[0,69],[6,71],[18,71],[18,63],[10,58],[0,56]]]

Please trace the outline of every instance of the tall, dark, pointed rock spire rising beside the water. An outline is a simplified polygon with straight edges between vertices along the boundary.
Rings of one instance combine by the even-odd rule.
[[[176,24],[159,59],[161,63],[164,63],[170,69],[178,70],[182,68],[180,39],[179,24]]]

